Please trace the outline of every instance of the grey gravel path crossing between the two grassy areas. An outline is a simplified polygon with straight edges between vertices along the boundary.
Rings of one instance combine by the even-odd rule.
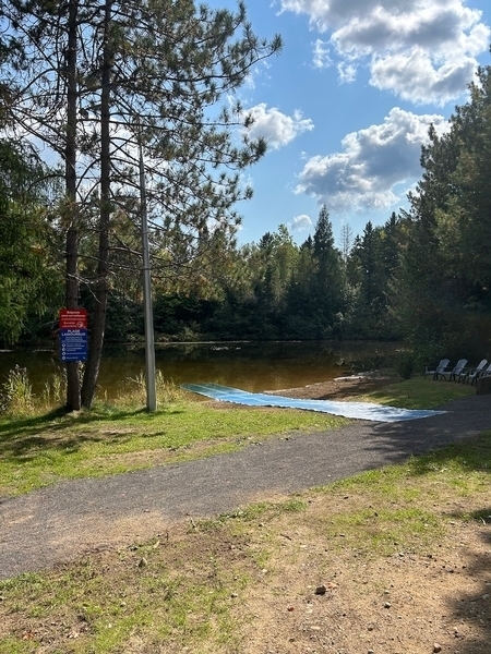
[[[423,420],[355,421],[231,455],[0,498],[0,579],[148,538],[183,518],[211,517],[325,485],[491,429],[491,396],[460,398],[443,409],[447,413]]]

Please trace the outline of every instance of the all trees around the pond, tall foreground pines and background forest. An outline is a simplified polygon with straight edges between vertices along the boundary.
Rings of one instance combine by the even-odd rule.
[[[89,407],[104,342],[143,335],[140,174],[157,340],[402,339],[416,359],[490,354],[491,69],[430,130],[409,209],[239,246],[240,171],[266,145],[224,98],[280,51],[237,12],[192,1],[10,0],[0,8],[0,341],[89,312]],[[40,144],[40,145],[39,145]],[[55,165],[46,161],[50,155]]]

